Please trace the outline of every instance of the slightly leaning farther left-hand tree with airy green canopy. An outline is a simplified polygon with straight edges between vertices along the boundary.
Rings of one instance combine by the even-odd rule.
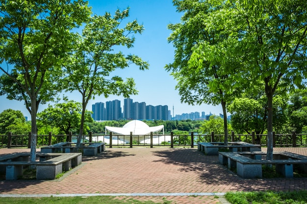
[[[67,71],[68,91],[77,90],[82,95],[82,112],[80,132],[77,145],[80,144],[84,116],[88,101],[95,95],[108,97],[110,94],[123,95],[136,94],[135,83],[132,78],[125,82],[119,76],[111,77],[111,72],[118,68],[127,68],[130,64],[139,66],[144,70],[148,63],[143,62],[135,55],[124,55],[121,51],[114,52],[122,47],[133,46],[135,38],[132,34],[142,33],[143,26],[137,21],[121,26],[128,17],[129,9],[117,10],[112,17],[110,13],[104,16],[94,16],[85,25],[75,50],[71,53],[70,60],[64,65]]]

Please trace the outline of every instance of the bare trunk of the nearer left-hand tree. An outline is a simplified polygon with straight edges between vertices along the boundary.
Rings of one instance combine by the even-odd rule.
[[[36,126],[36,98],[31,98],[31,151],[30,151],[30,160],[36,161],[36,135],[37,135],[37,126]]]

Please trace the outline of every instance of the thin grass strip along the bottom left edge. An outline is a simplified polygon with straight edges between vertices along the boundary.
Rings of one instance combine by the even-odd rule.
[[[161,204],[171,204],[163,199]],[[111,196],[90,197],[45,197],[45,198],[0,198],[0,204],[156,204],[152,201],[133,199],[117,200]]]

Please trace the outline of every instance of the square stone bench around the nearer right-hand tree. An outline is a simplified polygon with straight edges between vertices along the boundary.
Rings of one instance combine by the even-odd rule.
[[[263,160],[261,159],[262,155],[266,155],[266,153],[219,152],[219,162],[223,165],[227,165],[229,169],[236,169],[237,175],[242,178],[262,178],[263,164],[276,165],[276,171],[286,178],[293,178],[294,164],[299,165],[299,167],[307,173],[307,157],[305,156],[289,152],[275,152],[273,155],[275,155],[276,159]]]

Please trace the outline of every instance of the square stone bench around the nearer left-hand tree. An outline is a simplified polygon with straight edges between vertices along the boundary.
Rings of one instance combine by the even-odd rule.
[[[21,157],[29,157],[29,154],[21,154]],[[56,175],[64,171],[69,171],[82,162],[81,153],[46,153],[38,154],[40,161],[7,159],[0,161],[0,166],[5,166],[5,179],[16,180],[23,175],[24,166],[36,166],[37,180],[55,179]],[[13,156],[15,157],[15,155]]]

